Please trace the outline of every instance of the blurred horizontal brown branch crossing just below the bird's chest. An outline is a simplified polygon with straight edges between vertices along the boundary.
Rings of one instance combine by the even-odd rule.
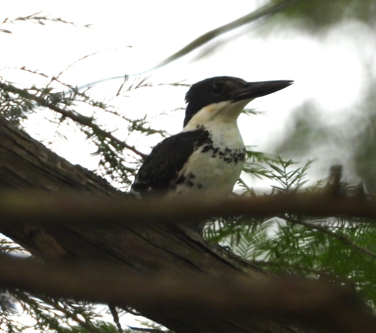
[[[41,191],[0,192],[0,223],[6,221],[52,220],[65,225],[100,226],[108,220],[126,225],[181,221],[187,225],[215,216],[278,216],[298,213],[305,216],[347,216],[376,219],[376,200],[333,197],[327,194],[298,193],[262,197],[218,198],[213,192],[183,195],[172,199],[137,200],[98,198],[83,193],[61,192],[51,196]],[[147,209],[145,209],[147,207]],[[283,216],[283,215],[279,215]],[[285,218],[285,217],[284,217]],[[367,220],[368,221],[368,220]],[[309,224],[312,228],[312,226]],[[321,229],[320,229],[321,230]]]

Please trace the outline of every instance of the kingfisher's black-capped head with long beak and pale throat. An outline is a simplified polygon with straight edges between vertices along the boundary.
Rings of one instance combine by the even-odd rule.
[[[185,95],[188,105],[183,126],[193,118],[195,124],[217,117],[223,121],[236,121],[250,101],[286,88],[291,83],[292,80],[247,82],[231,76],[202,80],[192,85]]]

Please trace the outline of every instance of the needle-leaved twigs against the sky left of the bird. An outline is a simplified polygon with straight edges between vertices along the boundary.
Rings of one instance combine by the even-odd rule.
[[[84,58],[82,58],[84,59]],[[70,66],[68,66],[70,67]],[[11,121],[13,124],[24,127],[25,120],[32,112],[39,109],[50,109],[48,116],[50,123],[56,126],[55,138],[65,139],[62,129],[76,127],[86,137],[95,144],[97,150],[94,154],[100,157],[97,173],[112,182],[112,185],[121,184],[127,188],[132,182],[142,158],[143,153],[132,145],[117,139],[112,133],[117,130],[106,129],[106,126],[99,125],[105,115],[112,115],[114,123],[121,124],[122,129],[127,129],[128,136],[133,133],[138,135],[158,134],[166,136],[164,130],[154,129],[149,125],[147,115],[139,119],[131,119],[124,115],[124,110],[120,112],[116,107],[109,105],[105,101],[99,101],[90,97],[90,89],[79,91],[75,86],[66,84],[60,80],[62,71],[57,76],[49,76],[38,71],[28,70],[25,67],[14,69],[15,71],[27,71],[34,75],[45,78],[45,85],[31,85],[29,88],[17,88],[17,86],[0,78],[0,117]],[[122,91],[124,83],[120,86],[117,95],[129,92],[133,89],[153,86],[146,82],[147,78],[135,80],[125,91]],[[175,82],[169,85],[180,86],[183,83]],[[63,87],[65,91],[56,92],[55,86]],[[91,115],[87,116],[77,112],[77,109],[87,110],[91,108]],[[51,145],[53,142],[45,142]]]

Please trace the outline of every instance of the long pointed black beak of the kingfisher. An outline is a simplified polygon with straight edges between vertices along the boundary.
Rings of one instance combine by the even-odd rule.
[[[247,82],[242,88],[230,92],[233,101],[246,100],[271,94],[290,86],[293,80]]]

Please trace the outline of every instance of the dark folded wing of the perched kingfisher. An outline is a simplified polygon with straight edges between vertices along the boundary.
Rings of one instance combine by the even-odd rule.
[[[193,151],[211,143],[209,132],[205,129],[180,132],[159,142],[141,165],[131,192],[141,197],[164,194],[173,187],[174,180]]]

